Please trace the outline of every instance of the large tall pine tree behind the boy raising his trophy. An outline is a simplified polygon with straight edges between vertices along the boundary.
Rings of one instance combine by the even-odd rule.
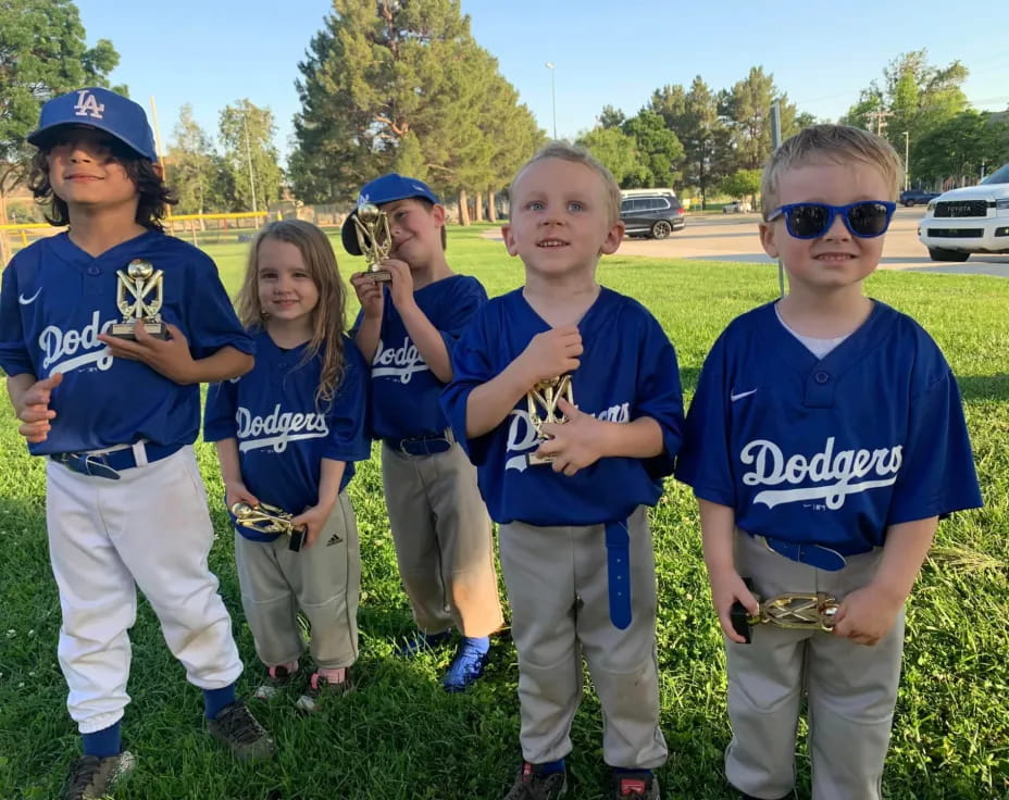
[[[306,201],[350,199],[397,163],[416,165],[441,193],[502,186],[543,140],[459,0],[333,9],[299,64],[289,166]]]

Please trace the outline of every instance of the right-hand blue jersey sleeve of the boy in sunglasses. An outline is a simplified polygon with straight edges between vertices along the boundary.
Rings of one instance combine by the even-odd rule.
[[[887,525],[982,505],[960,390],[948,368],[911,398],[907,443]]]

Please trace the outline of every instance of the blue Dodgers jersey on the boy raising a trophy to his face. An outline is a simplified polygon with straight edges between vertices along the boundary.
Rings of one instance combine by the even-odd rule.
[[[481,283],[469,275],[435,280],[414,292],[421,311],[445,339],[449,355],[473,314],[487,302]],[[363,312],[362,312],[363,313]],[[357,333],[359,313],[351,335]],[[445,384],[435,377],[407,333],[385,288],[382,330],[372,360],[371,434],[376,439],[437,436],[448,427],[438,397]]]

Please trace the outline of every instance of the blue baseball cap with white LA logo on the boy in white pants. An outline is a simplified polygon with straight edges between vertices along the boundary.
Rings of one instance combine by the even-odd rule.
[[[49,134],[67,125],[103,130],[138,155],[158,161],[154,134],[142,107],[109,89],[96,86],[54,97],[42,105],[38,128],[28,134],[28,142],[43,147]]]

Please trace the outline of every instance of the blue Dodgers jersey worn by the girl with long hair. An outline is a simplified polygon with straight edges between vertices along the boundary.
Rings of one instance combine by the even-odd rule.
[[[304,361],[307,345],[278,348],[266,332],[256,334],[256,366],[233,380],[213,384],[207,395],[203,438],[235,438],[241,479],[261,502],[299,514],[319,502],[323,459],[344,461],[340,490],[353,477],[353,462],[371,457],[364,429],[368,370],[361,351],[344,337],[344,377],[328,409],[315,404],[320,354]],[[249,539],[263,536],[236,526]]]

